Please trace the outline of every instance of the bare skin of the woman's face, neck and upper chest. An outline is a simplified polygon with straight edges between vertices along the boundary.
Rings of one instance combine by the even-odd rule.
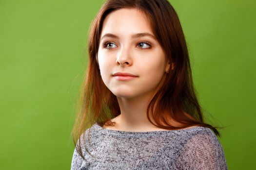
[[[103,82],[117,96],[121,113],[112,119],[116,122],[114,127],[104,125],[103,128],[130,132],[166,131],[153,125],[146,114],[150,100],[170,69],[162,47],[151,36],[154,34],[149,23],[145,14],[137,9],[117,10],[104,20],[100,44],[105,46],[99,47],[98,63]],[[141,33],[147,35],[134,38]],[[113,76],[117,72],[137,77],[124,81]],[[175,121],[172,123],[179,125]]]

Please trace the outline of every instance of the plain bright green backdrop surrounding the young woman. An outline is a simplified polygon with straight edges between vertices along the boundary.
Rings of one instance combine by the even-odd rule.
[[[256,2],[170,0],[230,170],[256,160]],[[0,0],[0,169],[69,170],[89,25],[102,0]],[[212,119],[210,113],[215,119]]]

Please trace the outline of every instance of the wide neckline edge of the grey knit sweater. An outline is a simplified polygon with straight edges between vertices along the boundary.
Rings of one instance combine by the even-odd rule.
[[[98,131],[101,131],[106,134],[114,134],[114,135],[168,135],[168,134],[179,133],[179,132],[191,132],[191,131],[194,131],[197,129],[204,128],[201,126],[196,126],[196,127],[192,127],[192,128],[177,129],[177,130],[133,132],[133,131],[119,131],[119,130],[106,129],[106,128],[101,127],[98,123],[95,123],[93,126]]]

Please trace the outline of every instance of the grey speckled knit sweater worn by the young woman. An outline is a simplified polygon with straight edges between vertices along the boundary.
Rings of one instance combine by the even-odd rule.
[[[217,136],[205,127],[124,132],[96,123],[83,135],[86,161],[75,149],[71,170],[228,170]]]

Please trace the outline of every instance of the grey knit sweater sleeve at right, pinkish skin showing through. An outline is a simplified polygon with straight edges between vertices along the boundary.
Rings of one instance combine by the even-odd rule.
[[[177,157],[176,167],[178,170],[228,170],[222,146],[213,132],[189,139]]]

